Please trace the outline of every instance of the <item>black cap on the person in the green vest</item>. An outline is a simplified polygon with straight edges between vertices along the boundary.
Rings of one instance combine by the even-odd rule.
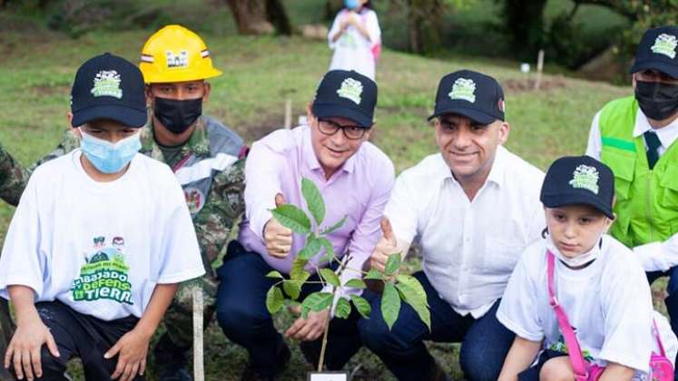
[[[629,73],[654,69],[678,78],[678,27],[660,26],[643,34]]]

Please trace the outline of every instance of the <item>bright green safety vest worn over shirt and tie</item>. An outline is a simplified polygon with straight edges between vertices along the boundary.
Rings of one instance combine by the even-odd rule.
[[[616,220],[610,233],[629,248],[664,241],[678,232],[678,143],[650,171],[643,135],[634,138],[634,97],[607,103],[600,112],[601,161],[614,172]]]

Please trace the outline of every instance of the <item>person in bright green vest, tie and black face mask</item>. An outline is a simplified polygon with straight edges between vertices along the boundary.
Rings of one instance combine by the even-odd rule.
[[[678,332],[678,27],[646,31],[630,72],[634,96],[595,114],[586,154],[614,171],[610,234],[634,249],[650,283],[670,278],[664,302]]]

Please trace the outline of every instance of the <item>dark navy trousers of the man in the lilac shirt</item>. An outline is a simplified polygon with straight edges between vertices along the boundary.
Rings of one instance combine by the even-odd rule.
[[[266,293],[279,280],[266,278],[272,270],[259,253],[247,251],[236,240],[229,244],[223,265],[217,270],[221,279],[217,292],[219,325],[226,337],[247,349],[251,366],[262,376],[275,376],[284,366],[279,356],[283,339],[266,308]],[[309,280],[319,278],[312,275]],[[305,285],[299,300],[320,288],[319,284]],[[352,308],[349,319],[330,321],[325,354],[329,369],[342,368],[359,350],[358,317]],[[306,346],[319,354],[320,342],[318,339]]]

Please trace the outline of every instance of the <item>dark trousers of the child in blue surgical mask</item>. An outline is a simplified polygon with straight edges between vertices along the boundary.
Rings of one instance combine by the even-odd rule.
[[[103,354],[139,321],[135,317],[103,321],[75,312],[58,301],[36,303],[35,308],[52,333],[61,355],[53,357],[46,346],[42,347],[40,357],[43,376],[36,379],[45,381],[68,380],[64,373],[68,360],[73,357],[82,359],[85,379],[110,380],[118,357],[107,360]],[[137,376],[135,380],[143,380],[143,377]]]

